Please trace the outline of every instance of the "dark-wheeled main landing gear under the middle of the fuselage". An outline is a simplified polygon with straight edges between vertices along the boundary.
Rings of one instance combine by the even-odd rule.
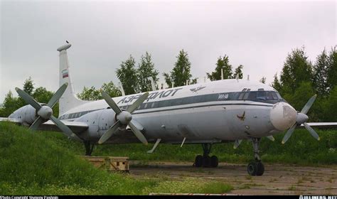
[[[219,160],[217,156],[209,156],[210,148],[212,144],[202,144],[203,145],[203,156],[196,156],[196,161],[194,161],[193,166],[196,167],[217,167]]]

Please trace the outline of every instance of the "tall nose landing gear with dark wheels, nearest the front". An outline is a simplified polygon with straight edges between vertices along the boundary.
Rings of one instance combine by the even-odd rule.
[[[253,138],[252,144],[254,148],[255,161],[251,161],[248,164],[247,171],[250,174],[250,176],[262,176],[262,174],[264,173],[264,165],[261,162],[261,158],[259,156],[260,138]]]

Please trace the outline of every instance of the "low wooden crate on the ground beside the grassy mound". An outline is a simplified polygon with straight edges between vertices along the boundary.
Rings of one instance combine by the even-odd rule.
[[[114,156],[78,156],[90,161],[97,168],[107,171],[129,171],[129,157]]]

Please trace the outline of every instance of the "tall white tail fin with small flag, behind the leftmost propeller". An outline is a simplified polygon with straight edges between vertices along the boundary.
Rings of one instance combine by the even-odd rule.
[[[67,55],[67,49],[71,47],[70,43],[62,45],[58,48],[60,52],[60,86],[65,82],[68,82],[67,90],[63,93],[62,97],[60,97],[59,103],[59,114],[62,115],[67,112],[69,109],[76,107],[80,104],[85,104],[85,101],[78,99],[75,95],[73,82],[70,79],[70,66]]]

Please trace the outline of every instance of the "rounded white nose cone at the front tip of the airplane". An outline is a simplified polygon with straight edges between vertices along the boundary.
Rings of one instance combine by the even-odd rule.
[[[296,122],[296,119],[296,110],[284,102],[274,104],[270,111],[270,122],[279,131],[289,129]]]

